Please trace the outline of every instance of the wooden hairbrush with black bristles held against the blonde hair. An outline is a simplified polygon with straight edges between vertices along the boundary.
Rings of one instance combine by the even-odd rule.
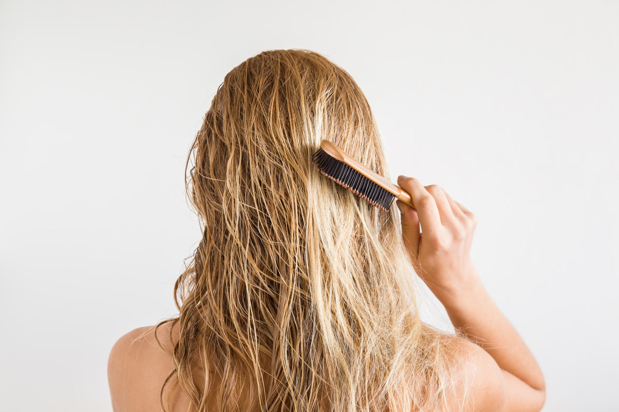
[[[412,208],[415,207],[410,195],[401,187],[368,169],[331,141],[320,142],[320,149],[314,153],[311,162],[316,165],[321,174],[382,211],[389,210],[396,198]]]

